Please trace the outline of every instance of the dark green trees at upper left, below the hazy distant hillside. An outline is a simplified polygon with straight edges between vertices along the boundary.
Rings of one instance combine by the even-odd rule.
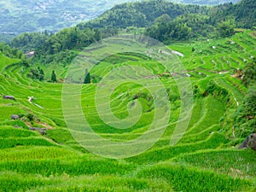
[[[11,45],[24,51],[35,50],[37,55],[55,55],[69,49],[80,49],[102,38],[98,29],[71,27],[57,33],[32,32],[14,38]]]

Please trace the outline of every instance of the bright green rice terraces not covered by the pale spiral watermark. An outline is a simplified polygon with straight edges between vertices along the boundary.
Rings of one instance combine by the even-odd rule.
[[[109,56],[90,71],[97,79],[83,85],[84,117],[97,134],[117,142],[143,135],[155,109],[147,90],[127,83],[114,88],[109,105],[113,114],[125,118],[127,103],[137,100],[142,117],[126,130],[106,125],[97,114],[94,99],[101,75],[129,65],[130,73],[124,71],[119,77],[132,76],[137,73],[136,66],[145,67],[160,77],[168,90],[172,112],[165,133],[145,153],[124,160],[105,159],[81,147],[63,118],[62,84],[32,80],[26,76],[29,68],[0,53],[0,191],[255,191],[255,152],[238,150],[230,140],[232,128],[221,126],[224,115],[230,108],[235,110],[247,92],[241,79],[231,75],[256,56],[256,41],[250,33],[169,45],[183,53],[180,61],[194,88],[198,87],[189,127],[175,146],[170,146],[170,140],[181,102],[175,79],[166,75],[159,63],[125,53]],[[48,77],[55,69],[61,79],[68,66],[40,67]],[[210,83],[226,95],[214,92],[203,96]],[[3,100],[3,95],[15,96],[15,100]],[[28,96],[34,100],[28,102]],[[20,114],[20,119],[11,120],[12,114]],[[29,127],[47,131],[40,134]]]

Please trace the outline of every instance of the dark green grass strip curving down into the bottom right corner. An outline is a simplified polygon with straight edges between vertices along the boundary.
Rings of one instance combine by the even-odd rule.
[[[152,166],[139,172],[139,176],[165,178],[175,191],[248,191],[250,188],[253,190],[252,183],[245,180],[170,163]]]

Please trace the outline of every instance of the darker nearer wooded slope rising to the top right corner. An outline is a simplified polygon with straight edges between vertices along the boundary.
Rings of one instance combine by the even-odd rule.
[[[256,2],[243,0],[240,3],[227,3],[211,9],[189,11],[174,20],[158,21],[148,27],[146,35],[160,41],[170,43],[172,40],[188,40],[190,38],[230,37],[235,27],[252,28],[256,25]],[[169,12],[172,13],[172,12]]]

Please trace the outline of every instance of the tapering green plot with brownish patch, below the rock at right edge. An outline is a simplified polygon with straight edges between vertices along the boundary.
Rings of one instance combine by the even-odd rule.
[[[218,174],[248,179],[253,178],[256,172],[256,165],[253,163],[255,157],[256,154],[250,150],[225,149],[183,154],[173,161],[205,170],[213,170]]]

